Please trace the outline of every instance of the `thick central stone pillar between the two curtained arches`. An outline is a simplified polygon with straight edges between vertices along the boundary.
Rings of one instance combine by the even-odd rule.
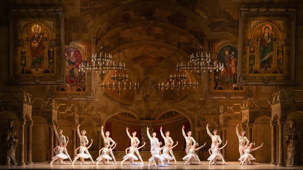
[[[145,145],[143,146],[143,148],[141,148],[141,151],[150,151],[151,150],[150,142],[149,142],[150,140],[147,137],[146,128],[148,126],[149,133],[151,133],[152,129],[155,126],[155,120],[139,120],[139,123],[140,123],[140,127],[141,127],[141,141],[140,142],[142,142],[142,141],[146,142]],[[131,136],[132,136],[132,134],[131,134]]]

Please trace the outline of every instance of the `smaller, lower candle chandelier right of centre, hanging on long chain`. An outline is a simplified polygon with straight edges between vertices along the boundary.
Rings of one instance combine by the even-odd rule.
[[[180,65],[180,61],[179,61],[179,52],[180,52],[180,48],[179,48],[179,35],[178,35],[178,65]],[[177,93],[177,96],[179,97],[181,91],[184,89],[184,88],[195,88],[195,87],[198,87],[198,81],[194,81],[194,82],[191,82],[191,81],[188,81],[187,80],[187,74],[185,73],[180,73],[181,72],[181,69],[177,67],[177,73],[176,74],[170,74],[169,75],[169,81],[167,81],[167,83],[164,84],[164,82],[162,83],[159,83],[159,89],[165,89],[165,90],[168,90],[168,89],[171,89],[171,90],[174,90],[175,93]]]

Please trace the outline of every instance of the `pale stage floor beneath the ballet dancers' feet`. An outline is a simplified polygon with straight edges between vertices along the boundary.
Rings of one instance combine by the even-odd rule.
[[[228,165],[208,165],[208,161],[201,161],[202,165],[184,165],[183,162],[178,162],[179,165],[170,165],[167,167],[148,167],[148,162],[144,162],[144,165],[129,165],[129,161],[125,161],[123,165],[120,165],[120,161],[117,162],[119,165],[79,165],[80,161],[75,162],[77,165],[58,165],[55,162],[53,165],[48,163],[33,163],[32,165],[25,166],[7,166],[0,165],[0,169],[303,169],[303,166],[292,166],[292,167],[281,167],[272,166],[269,163],[260,163],[259,165],[238,165],[238,161],[226,162]]]

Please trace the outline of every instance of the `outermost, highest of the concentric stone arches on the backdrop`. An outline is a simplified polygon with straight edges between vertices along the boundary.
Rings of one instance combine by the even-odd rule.
[[[232,35],[229,32],[212,32],[207,23],[194,11],[182,7],[180,5],[176,5],[170,2],[158,2],[158,1],[151,1],[151,2],[133,2],[133,3],[128,3],[125,5],[121,5],[115,8],[115,10],[109,10],[105,12],[101,17],[99,17],[95,23],[92,25],[91,28],[89,28],[88,32],[85,33],[87,36],[85,36],[83,33],[73,33],[72,34],[72,39],[83,39],[83,37],[86,37],[87,39],[90,39],[94,37],[94,34],[98,31],[100,28],[100,25],[103,25],[105,21],[107,21],[107,16],[115,16],[121,13],[122,11],[126,11],[125,9],[129,10],[134,10],[138,8],[145,8],[148,6],[149,8],[160,8],[159,6],[161,5],[161,8],[163,9],[168,9],[171,11],[176,11],[180,12],[187,17],[191,18],[193,21],[196,21],[197,25],[199,28],[203,28],[203,31],[205,32],[206,36],[208,39],[215,39],[216,37],[221,37],[222,39],[229,39],[231,42],[236,42],[237,38]]]

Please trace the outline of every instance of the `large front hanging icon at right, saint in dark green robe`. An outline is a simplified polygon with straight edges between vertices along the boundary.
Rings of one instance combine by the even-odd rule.
[[[258,13],[241,11],[243,20],[239,83],[292,83],[294,11]]]

